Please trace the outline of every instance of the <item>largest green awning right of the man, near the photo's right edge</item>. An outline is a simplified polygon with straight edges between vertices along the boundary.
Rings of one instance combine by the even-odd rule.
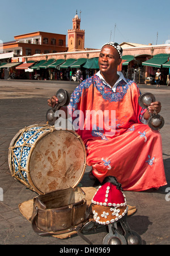
[[[165,62],[168,61],[168,54],[162,53],[162,54],[156,54],[153,58],[150,60],[147,60],[145,62],[142,62],[143,66],[153,66],[156,68],[161,68]]]

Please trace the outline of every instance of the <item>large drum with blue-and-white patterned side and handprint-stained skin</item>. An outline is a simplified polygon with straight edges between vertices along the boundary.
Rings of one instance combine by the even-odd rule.
[[[78,185],[86,169],[86,148],[74,131],[31,125],[12,139],[8,163],[13,177],[46,194]]]

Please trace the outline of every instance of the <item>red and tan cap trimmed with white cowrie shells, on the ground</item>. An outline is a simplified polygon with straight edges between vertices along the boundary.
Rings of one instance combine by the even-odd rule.
[[[109,224],[118,221],[128,212],[126,197],[121,184],[115,177],[107,177],[111,180],[99,186],[92,198],[92,212],[94,220],[99,224]]]

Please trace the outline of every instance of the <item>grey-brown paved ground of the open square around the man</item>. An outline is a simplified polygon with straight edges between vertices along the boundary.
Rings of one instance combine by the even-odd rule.
[[[54,237],[40,237],[32,230],[31,223],[20,213],[18,205],[37,194],[19,181],[16,181],[8,167],[8,146],[19,129],[32,124],[45,123],[48,110],[47,99],[60,88],[71,93],[76,82],[65,81],[3,81],[0,80],[0,244],[22,245],[87,245],[79,236],[65,240]],[[168,185],[158,191],[125,192],[128,204],[135,205],[137,212],[128,217],[130,228],[135,230],[144,244],[170,244],[170,87],[139,85],[142,93],[147,91],[162,102],[161,115],[165,125],[160,130],[163,141],[163,159]],[[82,186],[95,186],[88,178],[90,167],[87,166],[82,178]],[[2,193],[3,192],[3,193]],[[168,194],[169,192],[169,194]],[[107,234],[104,228],[92,230],[86,237],[94,245],[102,245]]]

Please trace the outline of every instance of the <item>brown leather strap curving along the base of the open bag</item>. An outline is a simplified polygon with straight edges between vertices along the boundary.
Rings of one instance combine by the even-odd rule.
[[[86,241],[88,244],[92,245],[92,242],[90,240],[88,240],[88,238],[86,238],[81,232],[80,229],[82,228],[82,224],[79,224],[78,226],[74,227],[72,226],[71,228],[67,229],[67,230],[62,230],[62,231],[58,231],[58,232],[46,232],[44,230],[40,230],[37,227],[36,224],[36,219],[37,219],[37,215],[38,215],[38,208],[36,207],[36,211],[34,216],[32,216],[32,228],[34,230],[35,233],[39,234],[39,236],[54,236],[54,235],[59,235],[59,234],[63,234],[63,233],[68,233],[71,231],[75,231],[81,238],[83,238],[84,241]]]

